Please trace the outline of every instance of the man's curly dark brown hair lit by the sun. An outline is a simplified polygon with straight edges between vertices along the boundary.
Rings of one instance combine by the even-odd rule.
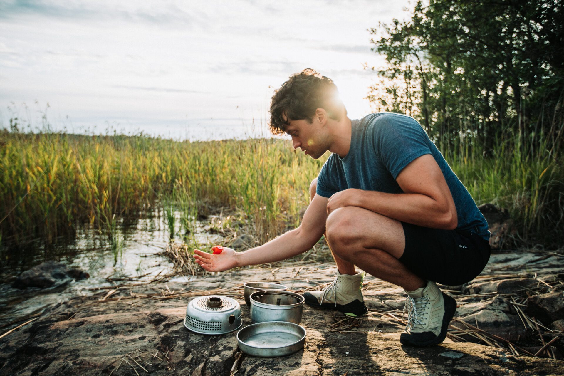
[[[337,121],[347,114],[332,79],[307,68],[290,76],[274,91],[270,101],[270,131],[275,135],[283,134],[290,120],[305,119],[311,124],[318,108],[325,109],[328,116]]]

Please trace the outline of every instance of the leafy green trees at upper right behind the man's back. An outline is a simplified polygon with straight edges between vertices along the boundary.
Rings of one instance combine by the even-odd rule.
[[[525,153],[548,139],[563,145],[564,6],[431,0],[408,21],[372,29],[386,56],[369,98],[419,120],[442,149],[470,135],[490,155],[495,141],[521,137]]]

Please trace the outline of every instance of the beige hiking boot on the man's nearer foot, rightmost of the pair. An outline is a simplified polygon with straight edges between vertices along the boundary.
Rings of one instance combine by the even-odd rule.
[[[406,291],[408,298],[403,309],[407,328],[400,342],[412,346],[433,346],[443,342],[456,311],[456,300],[443,293],[433,281],[415,291]]]

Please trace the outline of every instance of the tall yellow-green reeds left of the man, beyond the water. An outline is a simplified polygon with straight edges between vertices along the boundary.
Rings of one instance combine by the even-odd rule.
[[[2,131],[0,143],[0,236],[15,245],[51,243],[81,225],[111,232],[114,215],[170,202],[182,210],[186,232],[200,205],[223,206],[240,211],[266,241],[299,223],[322,164],[274,139],[191,143]]]

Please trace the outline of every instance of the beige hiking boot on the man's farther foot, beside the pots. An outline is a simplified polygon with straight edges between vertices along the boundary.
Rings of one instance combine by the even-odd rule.
[[[364,272],[354,276],[339,273],[323,290],[307,291],[303,297],[314,308],[335,309],[352,317],[362,316],[368,311],[360,290],[363,278]]]

